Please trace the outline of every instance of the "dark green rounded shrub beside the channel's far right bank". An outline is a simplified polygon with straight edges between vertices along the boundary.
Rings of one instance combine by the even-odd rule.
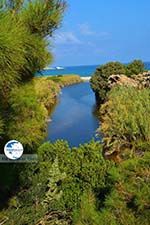
[[[125,66],[119,62],[110,62],[98,67],[91,78],[91,88],[95,92],[98,103],[103,103],[108,87],[108,78],[112,74],[125,74]]]

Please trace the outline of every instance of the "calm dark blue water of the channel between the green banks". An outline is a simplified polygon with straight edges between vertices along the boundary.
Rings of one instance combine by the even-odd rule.
[[[51,115],[47,140],[67,140],[70,146],[96,138],[99,126],[95,113],[95,97],[88,82],[62,90],[60,100]]]

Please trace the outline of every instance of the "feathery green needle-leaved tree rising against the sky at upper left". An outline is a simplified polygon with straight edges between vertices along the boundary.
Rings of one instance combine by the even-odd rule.
[[[21,92],[25,88],[24,83],[30,81],[38,70],[52,62],[52,55],[48,52],[47,38],[48,35],[52,36],[54,30],[58,28],[64,8],[64,1],[57,0],[5,0],[1,4],[0,104],[3,118],[6,116],[11,119],[15,118],[13,122],[16,122],[19,115],[14,114],[15,110],[12,113],[12,96],[15,104],[17,104],[18,99],[17,105],[20,104],[21,107],[23,102],[21,103],[20,98],[17,98],[19,96],[18,90]],[[17,90],[16,96],[14,90]],[[34,87],[32,94],[35,96],[33,92]],[[22,98],[23,95],[22,92]],[[29,95],[28,97],[30,98]],[[24,121],[25,127],[29,126],[29,118]],[[38,122],[36,120],[34,124]],[[4,120],[3,123],[6,127],[7,120]],[[12,127],[8,126],[13,127],[13,125],[7,123],[7,130],[12,131]],[[8,133],[5,133],[5,136]],[[9,137],[7,136],[7,138]]]

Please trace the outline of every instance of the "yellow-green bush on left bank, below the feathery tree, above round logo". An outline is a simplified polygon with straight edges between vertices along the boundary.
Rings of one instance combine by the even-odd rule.
[[[30,148],[39,144],[44,138],[48,112],[42,104],[38,104],[34,86],[26,84],[13,89],[9,104],[7,136]]]

